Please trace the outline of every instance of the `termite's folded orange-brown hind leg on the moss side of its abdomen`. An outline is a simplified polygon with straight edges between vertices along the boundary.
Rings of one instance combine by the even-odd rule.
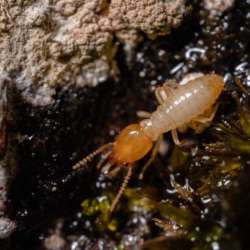
[[[218,104],[207,109],[202,115],[199,115],[191,122],[189,122],[188,127],[192,128],[197,134],[202,133],[214,119],[217,109],[218,109]]]

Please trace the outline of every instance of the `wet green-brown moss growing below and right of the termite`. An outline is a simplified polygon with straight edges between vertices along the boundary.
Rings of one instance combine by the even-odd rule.
[[[239,109],[238,114],[220,117],[217,124],[212,124],[205,132],[208,136],[202,137],[195,148],[174,146],[166,159],[157,159],[162,166],[152,176],[145,172],[143,182],[137,180],[132,184],[136,188],[127,187],[112,215],[110,204],[116,187],[112,187],[112,192],[102,191],[99,197],[84,200],[83,214],[91,217],[99,232],[117,235],[118,228],[124,226],[124,218],[143,211],[142,214],[159,219],[162,225],[155,220],[156,225],[164,230],[166,226],[172,237],[191,242],[193,250],[212,249],[212,244],[223,240],[225,235],[225,228],[217,224],[223,210],[220,198],[244,168],[244,157],[250,153],[250,113]],[[158,180],[157,185],[152,184]],[[174,225],[172,231],[171,225]],[[124,249],[123,244],[118,244],[117,249]]]

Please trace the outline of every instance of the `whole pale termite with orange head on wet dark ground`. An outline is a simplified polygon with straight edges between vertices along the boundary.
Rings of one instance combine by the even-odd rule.
[[[115,167],[115,171],[127,168],[124,181],[111,204],[111,212],[128,184],[133,163],[148,154],[162,134],[171,131],[174,143],[182,146],[184,142],[178,139],[177,130],[185,131],[190,127],[201,133],[214,118],[216,100],[224,88],[221,76],[196,73],[185,77],[176,88],[170,87],[169,83],[167,81],[156,88],[159,106],[154,112],[140,112],[143,119],[139,123],[128,125],[114,142],[101,146],[73,166],[73,169],[86,166],[96,155],[107,151],[99,167],[106,162],[108,171],[111,167]]]

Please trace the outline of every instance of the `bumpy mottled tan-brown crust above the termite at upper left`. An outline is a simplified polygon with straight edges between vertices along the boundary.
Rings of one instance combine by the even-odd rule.
[[[176,27],[185,0],[14,1],[0,3],[0,74],[25,99],[53,102],[54,86],[95,86],[115,69],[117,40],[135,46]]]

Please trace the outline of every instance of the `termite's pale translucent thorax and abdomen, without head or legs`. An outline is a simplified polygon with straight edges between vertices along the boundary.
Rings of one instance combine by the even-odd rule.
[[[223,78],[204,75],[173,89],[149,119],[140,122],[144,132],[156,140],[161,134],[176,129],[203,114],[217,100],[224,88]]]

